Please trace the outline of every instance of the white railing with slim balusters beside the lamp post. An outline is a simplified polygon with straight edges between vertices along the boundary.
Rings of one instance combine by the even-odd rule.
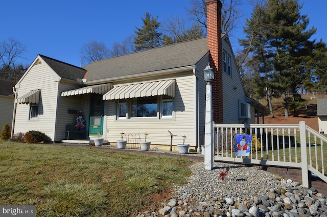
[[[309,186],[308,171],[327,182],[323,161],[327,138],[305,122],[297,125],[215,124],[214,131],[216,161],[297,167],[302,171],[303,186]],[[235,157],[236,134],[252,135],[248,157]]]

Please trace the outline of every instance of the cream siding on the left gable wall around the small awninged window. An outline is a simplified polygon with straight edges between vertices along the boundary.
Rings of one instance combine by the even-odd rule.
[[[30,130],[41,131],[54,140],[54,126],[57,106],[56,74],[45,64],[35,64],[17,88],[18,98],[31,90],[40,89],[38,119],[29,120],[30,105],[17,103],[14,133],[26,133]]]

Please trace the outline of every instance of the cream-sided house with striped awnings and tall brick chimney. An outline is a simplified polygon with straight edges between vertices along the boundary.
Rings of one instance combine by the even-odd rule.
[[[39,130],[67,139],[67,125],[84,139],[140,137],[153,145],[204,143],[203,69],[213,68],[213,118],[255,123],[262,105],[247,98],[227,34],[221,3],[207,1],[207,37],[92,62],[83,68],[38,55],[16,84],[14,131]],[[259,116],[259,113],[258,113]]]

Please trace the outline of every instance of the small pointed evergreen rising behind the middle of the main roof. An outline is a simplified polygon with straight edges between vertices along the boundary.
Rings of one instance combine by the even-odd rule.
[[[158,17],[157,17],[158,18]],[[161,44],[162,33],[158,32],[160,22],[157,18],[153,18],[149,12],[142,18],[143,26],[134,31],[136,36],[134,38],[135,50],[142,51],[158,47]]]

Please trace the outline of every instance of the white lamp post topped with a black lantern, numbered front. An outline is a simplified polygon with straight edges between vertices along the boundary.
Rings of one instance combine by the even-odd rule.
[[[213,170],[213,104],[212,104],[212,85],[214,73],[209,63],[203,70],[204,81],[206,81],[205,90],[205,129],[204,129],[204,168],[205,170]]]

